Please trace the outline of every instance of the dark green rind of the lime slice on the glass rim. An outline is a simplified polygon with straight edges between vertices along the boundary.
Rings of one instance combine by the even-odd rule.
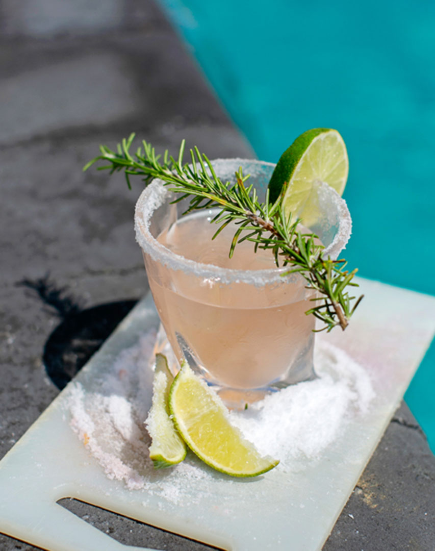
[[[271,203],[275,203],[276,199],[278,199],[282,187],[285,184],[289,184],[297,164],[313,139],[324,132],[330,131],[331,128],[312,128],[311,130],[307,130],[298,136],[290,147],[282,153],[269,181],[269,199]]]

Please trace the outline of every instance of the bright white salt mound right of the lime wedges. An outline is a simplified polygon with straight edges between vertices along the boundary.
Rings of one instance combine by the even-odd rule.
[[[314,365],[318,379],[231,413],[244,436],[260,453],[279,458],[285,471],[296,461],[318,458],[338,437],[346,418],[366,412],[374,397],[366,371],[342,350],[318,341]]]

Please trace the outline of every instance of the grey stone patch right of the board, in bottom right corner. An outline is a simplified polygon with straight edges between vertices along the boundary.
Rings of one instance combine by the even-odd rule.
[[[402,403],[323,551],[433,551],[435,460]]]

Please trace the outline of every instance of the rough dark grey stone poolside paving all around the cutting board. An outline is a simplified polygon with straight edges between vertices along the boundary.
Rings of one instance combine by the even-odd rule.
[[[0,457],[57,395],[41,356],[58,319],[17,286],[48,271],[87,306],[146,291],[132,215],[140,183],[80,168],[136,131],[211,157],[253,156],[151,0],[4,0],[0,19]],[[435,461],[405,407],[325,551],[433,551]],[[403,420],[401,420],[403,418]],[[205,549],[74,500],[130,545]],[[350,516],[352,515],[352,516]],[[313,519],[315,522],[315,519]],[[0,548],[32,550],[0,534]]]

